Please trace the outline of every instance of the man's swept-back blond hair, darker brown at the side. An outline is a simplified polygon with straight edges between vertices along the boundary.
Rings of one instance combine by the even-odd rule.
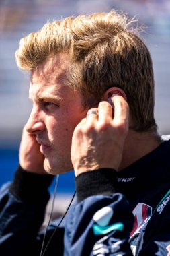
[[[48,22],[22,38],[17,65],[32,70],[56,53],[68,53],[68,84],[81,92],[84,106],[94,106],[117,86],[126,93],[133,129],[155,129],[153,65],[132,22],[115,11]]]

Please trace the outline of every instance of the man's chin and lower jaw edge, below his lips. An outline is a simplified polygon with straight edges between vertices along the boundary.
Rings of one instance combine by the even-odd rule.
[[[48,174],[57,175],[57,174],[63,174],[63,173],[69,172],[73,170],[73,168],[71,168],[71,166],[65,166],[65,164],[63,166],[60,166],[60,164],[57,164],[57,163],[50,163],[49,160],[45,158],[44,170]]]

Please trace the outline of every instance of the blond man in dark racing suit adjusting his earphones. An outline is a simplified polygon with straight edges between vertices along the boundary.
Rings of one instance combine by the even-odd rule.
[[[131,23],[81,15],[21,40],[33,108],[1,191],[1,255],[168,255],[170,143],[157,133],[152,61]],[[73,168],[77,204],[42,248],[48,174]]]

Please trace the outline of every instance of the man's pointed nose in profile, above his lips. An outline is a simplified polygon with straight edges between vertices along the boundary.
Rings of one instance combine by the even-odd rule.
[[[39,133],[40,131],[44,131],[45,125],[44,120],[42,118],[42,113],[38,108],[32,109],[30,117],[26,123],[26,131],[29,133]]]

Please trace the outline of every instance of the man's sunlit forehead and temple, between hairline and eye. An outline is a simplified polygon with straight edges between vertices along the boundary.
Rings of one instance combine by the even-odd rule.
[[[68,55],[62,53],[50,57],[42,65],[31,71],[29,98],[32,100],[54,100],[62,106],[82,108],[81,94],[68,86]]]

